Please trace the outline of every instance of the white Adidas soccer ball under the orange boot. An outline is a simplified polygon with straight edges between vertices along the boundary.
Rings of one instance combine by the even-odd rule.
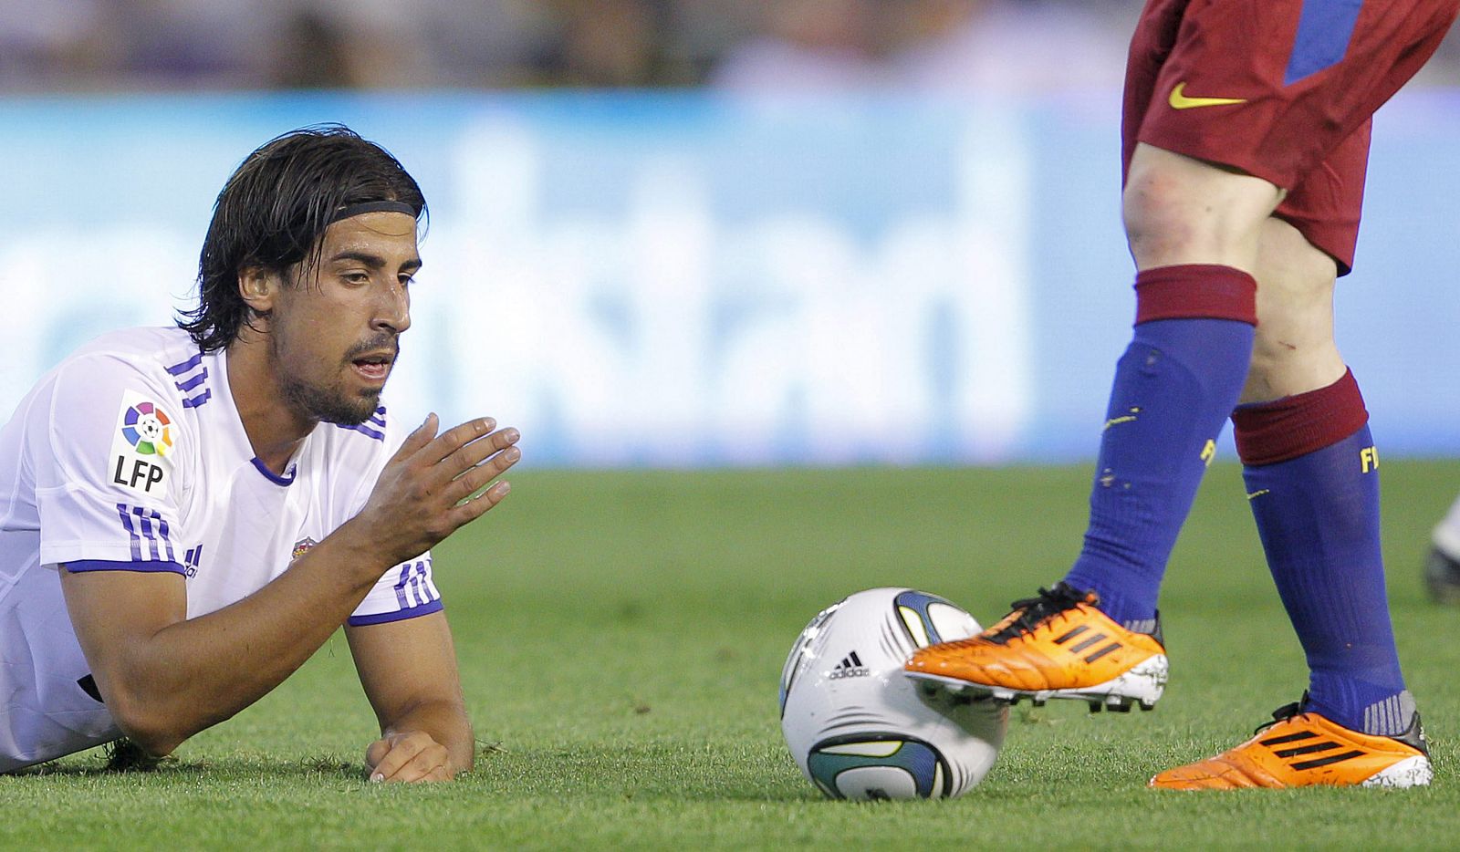
[[[781,734],[807,781],[848,799],[950,798],[983,781],[1009,708],[902,674],[917,648],[978,630],[908,588],[857,592],[812,619],[781,670]]]

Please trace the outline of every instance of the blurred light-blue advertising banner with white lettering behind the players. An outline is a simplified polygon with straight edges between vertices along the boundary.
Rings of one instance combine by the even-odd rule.
[[[86,338],[169,322],[232,169],[323,121],[431,204],[402,416],[492,414],[574,465],[1094,455],[1134,311],[1114,92],[7,101],[0,417]],[[1457,95],[1380,112],[1339,283],[1388,454],[1460,454],[1457,142]]]

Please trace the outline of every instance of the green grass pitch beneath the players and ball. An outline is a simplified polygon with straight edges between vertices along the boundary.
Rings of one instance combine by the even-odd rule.
[[[1418,566],[1460,464],[1384,464],[1400,652],[1438,778],[1410,792],[1169,794],[1156,770],[1295,700],[1302,655],[1240,471],[1216,465],[1162,597],[1172,680],[1150,713],[1013,712],[955,801],[823,801],[781,744],[777,678],[800,627],[910,585],[988,623],[1057,579],[1088,465],[727,473],[526,471],[438,549],[482,744],[453,785],[369,785],[374,718],[336,636],[283,687],[152,773],[98,753],[0,778],[0,848],[1435,848],[1460,836],[1460,611]],[[1451,837],[1451,840],[1445,840]]]

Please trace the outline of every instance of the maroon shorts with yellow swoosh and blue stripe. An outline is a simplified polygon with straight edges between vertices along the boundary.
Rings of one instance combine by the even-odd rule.
[[[1276,216],[1353,264],[1369,121],[1440,45],[1460,0],[1148,0],[1130,42],[1137,142],[1288,190]]]

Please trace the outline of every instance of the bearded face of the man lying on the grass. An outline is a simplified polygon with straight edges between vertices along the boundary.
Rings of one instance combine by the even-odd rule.
[[[420,268],[416,220],[377,212],[342,219],[321,241],[318,266],[289,270],[269,315],[269,350],[283,401],[298,413],[359,425],[410,328],[410,277]]]

